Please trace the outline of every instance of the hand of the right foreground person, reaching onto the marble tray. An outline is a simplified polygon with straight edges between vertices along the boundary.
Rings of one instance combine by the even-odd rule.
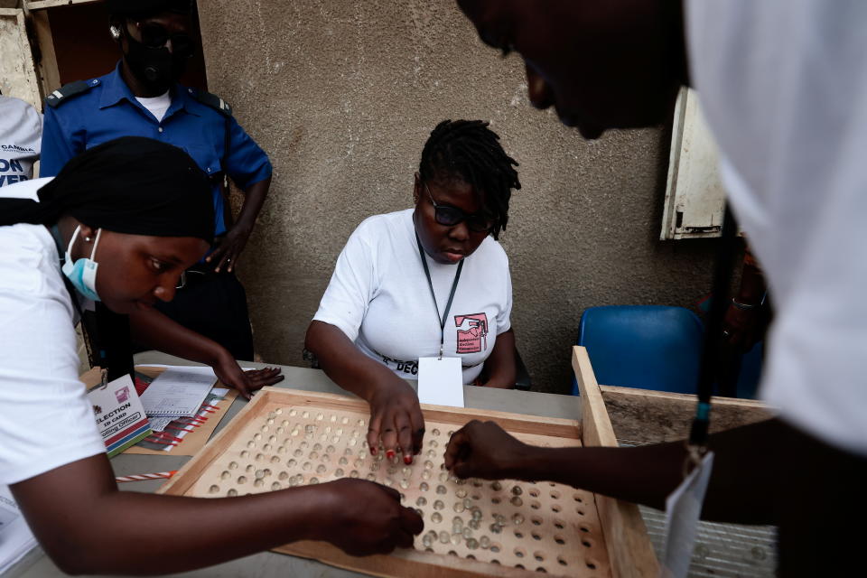
[[[511,477],[530,452],[530,446],[498,424],[474,419],[452,433],[445,448],[445,467],[458,478],[499,480]]]

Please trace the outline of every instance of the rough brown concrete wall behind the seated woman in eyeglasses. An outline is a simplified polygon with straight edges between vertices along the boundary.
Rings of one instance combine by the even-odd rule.
[[[200,23],[210,90],[275,166],[242,264],[267,361],[303,364],[346,238],[368,215],[411,205],[424,140],[443,118],[490,120],[521,163],[501,240],[534,389],[567,389],[585,307],[691,306],[707,291],[712,245],[656,240],[666,131],[583,141],[528,105],[519,58],[484,47],[452,2],[208,0]]]

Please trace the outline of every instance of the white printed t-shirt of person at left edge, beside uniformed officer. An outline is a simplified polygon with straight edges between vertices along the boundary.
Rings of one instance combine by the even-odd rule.
[[[0,95],[0,187],[33,179],[42,115],[18,98]]]

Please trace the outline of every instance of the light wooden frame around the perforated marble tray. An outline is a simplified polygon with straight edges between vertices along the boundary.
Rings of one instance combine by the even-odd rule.
[[[425,417],[430,421],[460,426],[471,419],[494,420],[515,433],[543,434],[580,439],[585,446],[616,446],[611,421],[605,411],[601,392],[593,376],[590,359],[582,347],[573,348],[573,368],[581,390],[574,398],[581,404],[581,422],[548,417],[509,414],[470,408],[423,405]],[[294,389],[265,387],[238,415],[199,452],[187,462],[158,493],[182,496],[190,491],[202,472],[219,459],[228,444],[247,425],[247,417],[256,415],[256,408],[276,398],[294,406],[327,405],[334,410],[367,411],[365,402],[358,398],[337,396]],[[580,400],[580,401],[579,401]],[[617,578],[650,577],[658,575],[658,564],[648,538],[647,529],[638,507],[620,500],[595,495],[602,537],[609,555],[611,575]],[[275,548],[284,554],[312,558],[352,571],[389,578],[479,578],[491,575],[491,565],[455,556],[439,555],[419,550],[400,550],[392,555],[355,557],[344,554],[336,546],[324,542],[302,541]],[[496,574],[507,578],[537,577],[539,573],[507,566],[496,566]]]

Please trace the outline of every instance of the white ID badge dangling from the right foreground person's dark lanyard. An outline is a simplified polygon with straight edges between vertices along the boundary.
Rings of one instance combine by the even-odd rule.
[[[707,452],[666,499],[666,545],[659,571],[661,578],[683,578],[689,572],[698,517],[702,513],[704,492],[711,480],[712,469],[713,452]]]

